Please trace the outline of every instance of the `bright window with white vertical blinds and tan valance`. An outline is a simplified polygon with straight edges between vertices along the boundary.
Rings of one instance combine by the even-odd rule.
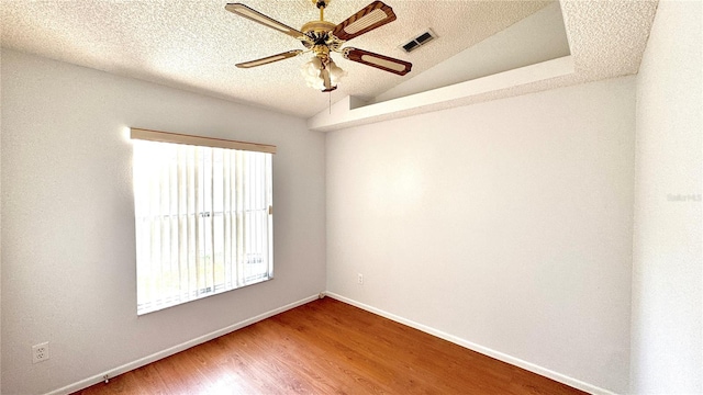
[[[276,147],[132,129],[137,314],[270,280]]]

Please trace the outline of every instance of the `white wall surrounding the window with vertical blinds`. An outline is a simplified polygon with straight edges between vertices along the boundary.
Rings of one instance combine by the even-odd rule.
[[[2,394],[76,383],[325,287],[324,135],[303,120],[2,52]],[[278,146],[276,279],[136,316],[129,126]],[[49,341],[51,359],[31,362]]]

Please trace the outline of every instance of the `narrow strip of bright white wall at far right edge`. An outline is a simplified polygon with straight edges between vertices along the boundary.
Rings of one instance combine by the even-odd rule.
[[[700,1],[660,1],[637,76],[636,394],[703,393],[702,18]]]

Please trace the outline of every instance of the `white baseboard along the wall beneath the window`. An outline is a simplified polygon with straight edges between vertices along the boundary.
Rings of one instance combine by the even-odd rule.
[[[266,312],[264,314],[259,314],[259,315],[257,315],[255,317],[245,319],[245,320],[236,323],[234,325],[230,325],[227,327],[224,327],[222,329],[215,330],[215,331],[210,332],[208,335],[203,335],[203,336],[194,338],[192,340],[188,340],[186,342],[182,342],[180,345],[174,346],[174,347],[168,348],[166,350],[163,350],[163,351],[153,353],[150,356],[141,358],[141,359],[138,359],[136,361],[133,361],[133,362],[130,362],[130,363],[125,363],[122,366],[118,366],[118,368],[111,369],[111,370],[109,370],[107,372],[102,372],[102,373],[96,374],[96,375],[93,375],[91,377],[81,380],[81,381],[79,381],[77,383],[69,384],[69,385],[67,385],[65,387],[52,391],[52,392],[47,393],[46,395],[66,395],[66,394],[74,393],[76,391],[80,391],[80,390],[87,388],[87,387],[89,387],[89,386],[91,386],[93,384],[98,384],[98,383],[104,381],[104,376],[105,375],[108,377],[114,377],[114,376],[118,376],[118,375],[120,375],[122,373],[126,373],[126,372],[129,372],[131,370],[134,370],[134,369],[137,369],[137,368],[142,368],[142,366],[147,365],[147,364],[149,364],[152,362],[158,361],[158,360],[164,359],[166,357],[170,357],[170,356],[172,356],[175,353],[178,353],[178,352],[181,352],[183,350],[187,350],[187,349],[189,349],[191,347],[204,343],[205,341],[210,341],[210,340],[212,340],[214,338],[219,338],[220,336],[227,335],[227,334],[230,334],[232,331],[235,331],[237,329],[244,328],[245,326],[258,323],[258,321],[264,320],[264,319],[266,319],[268,317],[272,317],[272,316],[275,316],[275,315],[277,315],[279,313],[283,313],[283,312],[289,311],[291,308],[295,308],[298,306],[304,305],[305,303],[309,303],[309,302],[312,302],[312,301],[319,298],[321,295],[322,294],[308,296],[308,297],[305,297],[303,300],[300,300],[298,302],[293,302],[293,303],[288,304],[286,306],[282,306],[282,307],[279,307],[279,308],[275,308],[275,309]]]

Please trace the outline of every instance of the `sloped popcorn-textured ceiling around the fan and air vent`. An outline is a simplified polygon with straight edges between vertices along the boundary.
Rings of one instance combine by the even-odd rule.
[[[325,20],[342,22],[370,1],[333,0]],[[242,2],[295,29],[319,19],[310,0]],[[550,2],[386,0],[398,20],[348,45],[409,60],[413,70],[400,77],[336,56],[348,76],[332,98],[305,86],[299,70],[310,55],[253,69],[234,67],[302,45],[225,11],[225,3],[2,0],[2,46],[309,117],[324,110],[330,100],[375,98]],[[399,48],[427,27],[439,36],[436,42],[412,54]]]

